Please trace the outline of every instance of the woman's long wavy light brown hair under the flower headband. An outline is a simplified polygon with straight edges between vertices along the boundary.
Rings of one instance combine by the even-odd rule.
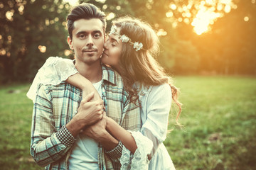
[[[179,90],[155,59],[159,55],[159,38],[156,32],[148,23],[129,16],[117,18],[112,23],[119,28],[120,35],[127,35],[132,42],[143,44],[143,49],[136,51],[130,43],[122,43],[119,74],[124,80],[124,89],[127,90],[132,101],[137,101],[138,91],[133,86],[135,82],[152,86],[169,84],[172,99],[178,106],[177,121],[181,113],[181,103],[178,101]]]

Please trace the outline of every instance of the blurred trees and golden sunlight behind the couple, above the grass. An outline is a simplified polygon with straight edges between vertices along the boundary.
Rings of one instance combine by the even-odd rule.
[[[82,1],[80,1],[82,2]],[[111,21],[127,14],[161,39],[159,62],[174,74],[256,74],[255,0],[85,1]],[[31,81],[50,56],[73,58],[65,18],[78,1],[0,2],[0,83]]]

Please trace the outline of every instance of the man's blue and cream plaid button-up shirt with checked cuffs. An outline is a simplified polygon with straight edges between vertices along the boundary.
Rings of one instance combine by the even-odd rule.
[[[102,66],[102,97],[107,116],[126,130],[141,128],[139,108],[127,98],[122,78],[105,66]],[[56,86],[41,84],[39,87],[31,128],[31,155],[38,165],[46,169],[68,169],[68,158],[76,139],[65,125],[78,113],[81,100],[82,91],[65,81]],[[121,154],[122,142],[109,152],[99,144],[99,168],[120,169]]]

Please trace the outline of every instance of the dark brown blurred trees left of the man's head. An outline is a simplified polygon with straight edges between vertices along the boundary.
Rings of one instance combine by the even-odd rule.
[[[0,4],[0,82],[31,79],[46,58],[63,56],[68,48],[63,43],[67,35],[63,22],[69,4],[61,0],[8,0]]]

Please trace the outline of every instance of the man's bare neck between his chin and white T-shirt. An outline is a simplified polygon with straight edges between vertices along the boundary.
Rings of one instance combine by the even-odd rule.
[[[78,72],[93,83],[97,83],[102,79],[102,66],[100,62],[94,64],[85,64],[84,62],[75,62],[75,68]]]

